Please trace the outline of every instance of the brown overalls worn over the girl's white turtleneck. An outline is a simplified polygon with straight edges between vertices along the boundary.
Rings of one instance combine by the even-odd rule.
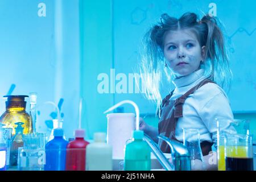
[[[177,98],[175,101],[170,101],[174,90],[163,99],[162,105],[160,107],[160,121],[158,123],[159,135],[163,135],[172,140],[181,142],[175,138],[175,128],[177,125],[177,120],[180,117],[183,117],[183,104],[190,94],[193,94],[197,89],[209,82],[214,83],[211,80],[205,79],[188,90],[188,92],[186,92],[183,96]],[[213,143],[208,141],[200,143],[203,155],[208,155],[209,152],[212,151],[212,145]],[[163,140],[159,140],[159,147],[164,153],[170,153],[170,146],[168,146],[168,144]]]

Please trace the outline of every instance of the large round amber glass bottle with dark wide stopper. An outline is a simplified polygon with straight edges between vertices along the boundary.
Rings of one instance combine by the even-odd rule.
[[[25,97],[28,96],[3,96],[7,97],[6,111],[0,117],[0,123],[5,124],[5,127],[13,129],[15,134],[15,123],[23,122],[23,134],[32,133],[32,122],[30,115],[26,112]]]

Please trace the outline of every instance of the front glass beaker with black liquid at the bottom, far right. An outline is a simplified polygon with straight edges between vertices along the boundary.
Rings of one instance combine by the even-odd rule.
[[[226,171],[253,171],[252,136],[245,134],[226,135]]]

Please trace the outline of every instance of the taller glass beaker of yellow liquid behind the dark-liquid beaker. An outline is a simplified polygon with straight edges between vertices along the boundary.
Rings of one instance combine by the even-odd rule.
[[[248,135],[249,121],[244,119],[216,118],[214,124],[217,127],[217,159],[218,171],[225,171],[226,137],[230,134]]]

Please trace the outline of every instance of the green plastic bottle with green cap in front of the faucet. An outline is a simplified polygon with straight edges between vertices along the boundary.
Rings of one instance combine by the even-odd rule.
[[[125,171],[150,171],[151,150],[143,140],[144,132],[135,130],[133,132],[133,142],[128,143],[125,148]]]

